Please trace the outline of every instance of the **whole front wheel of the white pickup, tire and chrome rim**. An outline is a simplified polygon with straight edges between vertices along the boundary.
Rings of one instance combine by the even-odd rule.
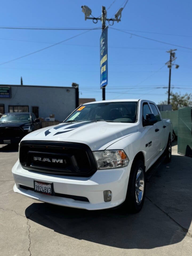
[[[131,167],[124,209],[130,213],[138,213],[144,203],[145,190],[145,166],[141,160],[136,160]]]

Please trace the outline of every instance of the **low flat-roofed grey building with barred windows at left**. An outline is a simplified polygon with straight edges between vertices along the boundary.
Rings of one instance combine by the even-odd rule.
[[[36,117],[63,121],[77,106],[78,88],[0,85],[0,113],[33,112]]]

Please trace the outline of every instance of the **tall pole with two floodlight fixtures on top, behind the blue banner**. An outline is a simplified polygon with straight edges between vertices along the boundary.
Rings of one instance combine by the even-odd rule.
[[[124,7],[126,6],[127,2],[128,2],[128,0],[126,1]],[[98,20],[100,20],[100,21],[102,22],[102,32],[103,32],[103,30],[105,30],[105,28],[106,28],[106,26],[105,26],[105,22],[106,22],[106,21],[109,22],[109,25],[110,25],[110,26],[113,26],[114,21],[117,21],[117,22],[121,21],[121,12],[122,12],[122,10],[123,10],[124,7],[121,7],[121,8],[117,11],[117,13],[115,14],[115,18],[107,19],[107,17],[106,17],[106,16],[107,16],[107,11],[106,11],[105,6],[102,6],[102,14],[101,14],[101,16],[99,16],[98,18],[93,17],[93,15],[91,14],[92,11],[91,11],[91,9],[90,9],[88,6],[86,6],[86,5],[81,6],[82,12],[85,14],[85,20],[86,20],[86,19],[92,19],[92,20],[93,20],[93,23],[97,23]],[[92,17],[89,17],[90,15],[91,15],[93,18],[92,18]],[[101,18],[100,18],[100,17],[101,17]],[[106,42],[106,43],[107,43],[107,42]],[[106,61],[107,61],[107,59],[106,59]],[[107,81],[107,79],[106,79],[106,81]],[[101,87],[102,87],[102,100],[103,100],[103,101],[105,100],[105,87],[106,87],[106,85],[107,85],[107,82],[105,82],[105,85],[103,84],[103,86],[102,86],[102,84],[101,84]]]

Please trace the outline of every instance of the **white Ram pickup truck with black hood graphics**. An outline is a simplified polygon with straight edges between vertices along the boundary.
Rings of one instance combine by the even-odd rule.
[[[62,111],[62,110],[61,110]],[[56,126],[26,135],[12,168],[14,191],[55,205],[141,210],[146,171],[171,160],[172,124],[154,102],[84,104]]]

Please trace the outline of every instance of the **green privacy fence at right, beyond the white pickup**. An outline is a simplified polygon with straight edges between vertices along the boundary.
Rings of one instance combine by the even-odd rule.
[[[177,135],[178,153],[192,157],[192,110],[184,107],[175,111],[162,111],[162,118],[169,118]]]

